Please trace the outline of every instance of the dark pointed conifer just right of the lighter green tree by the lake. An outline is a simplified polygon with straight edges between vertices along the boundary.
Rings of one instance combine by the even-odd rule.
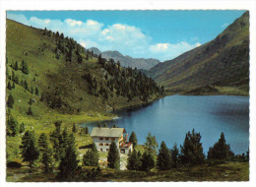
[[[164,142],[161,142],[160,144],[157,164],[160,170],[168,170],[170,168],[171,156]]]

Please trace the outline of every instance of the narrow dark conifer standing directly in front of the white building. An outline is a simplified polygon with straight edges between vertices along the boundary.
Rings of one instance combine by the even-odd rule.
[[[119,169],[120,168],[120,155],[119,150],[114,141],[111,142],[109,152],[107,155],[107,166],[109,168]]]

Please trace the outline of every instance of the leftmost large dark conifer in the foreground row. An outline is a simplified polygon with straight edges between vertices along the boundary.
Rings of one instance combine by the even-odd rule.
[[[38,158],[39,151],[36,146],[36,140],[33,131],[26,131],[22,138],[22,156],[24,161],[30,162],[30,167],[32,167],[33,161]]]

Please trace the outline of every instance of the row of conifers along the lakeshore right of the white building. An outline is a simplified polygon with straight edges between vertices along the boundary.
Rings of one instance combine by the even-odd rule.
[[[133,132],[134,133],[134,132]],[[132,135],[131,135],[132,137]],[[131,139],[130,137],[130,139]],[[140,151],[134,150],[129,154],[127,169],[150,171],[153,168],[159,170],[169,170],[179,166],[193,166],[205,162],[222,162],[222,161],[249,161],[249,151],[242,156],[234,156],[230,146],[226,144],[224,133],[221,134],[219,141],[209,148],[207,156],[203,153],[203,147],[200,133],[193,129],[185,136],[185,140],[180,149],[174,144],[172,149],[168,149],[164,142],[160,144],[160,150],[157,154],[158,143],[156,137],[150,133],[147,137],[145,146],[147,150],[142,155]],[[133,135],[130,142],[137,143],[136,135]]]

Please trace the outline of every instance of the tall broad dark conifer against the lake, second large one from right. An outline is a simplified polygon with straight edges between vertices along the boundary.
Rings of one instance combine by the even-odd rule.
[[[192,130],[192,133],[186,134],[183,146],[181,147],[181,161],[184,164],[199,164],[205,159],[203,146],[200,143],[201,135]]]

